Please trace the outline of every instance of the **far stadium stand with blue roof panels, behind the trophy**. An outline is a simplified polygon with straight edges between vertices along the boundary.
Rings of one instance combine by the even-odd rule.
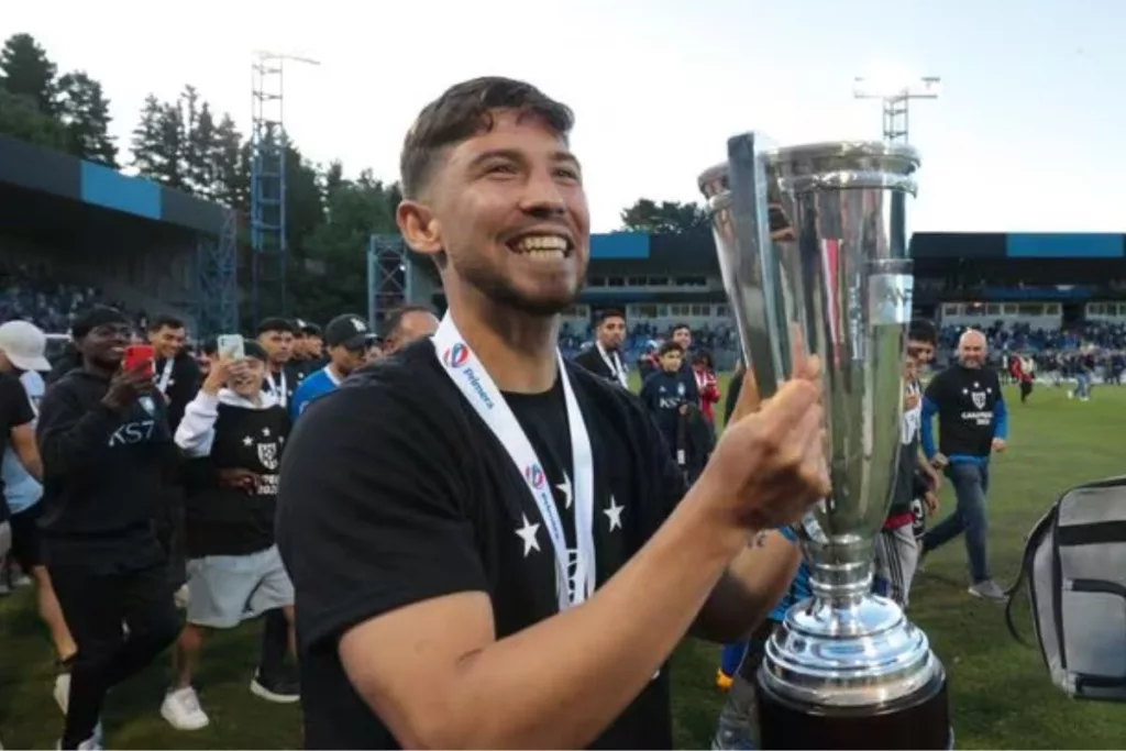
[[[1126,236],[923,232],[912,238],[911,252],[914,312],[941,327],[939,364],[973,327],[988,334],[997,364],[1009,354],[1035,355],[1045,370],[1058,360],[1066,377],[1090,356],[1099,373],[1115,377],[1126,349]],[[421,298],[443,310],[437,275],[425,266],[415,277],[428,285]],[[709,232],[592,236],[587,287],[564,315],[564,350],[590,346],[591,321],[607,307],[626,314],[631,359],[681,323],[717,369],[739,357]]]

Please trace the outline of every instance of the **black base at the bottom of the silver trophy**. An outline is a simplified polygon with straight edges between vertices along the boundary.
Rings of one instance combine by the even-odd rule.
[[[869,707],[803,706],[757,681],[763,749],[953,749],[946,671],[918,691]]]

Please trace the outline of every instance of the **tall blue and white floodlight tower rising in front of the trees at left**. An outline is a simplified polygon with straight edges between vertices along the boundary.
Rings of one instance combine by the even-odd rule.
[[[315,60],[256,52],[252,71],[250,131],[251,314],[253,325],[265,315],[286,310],[286,147],[284,69]]]

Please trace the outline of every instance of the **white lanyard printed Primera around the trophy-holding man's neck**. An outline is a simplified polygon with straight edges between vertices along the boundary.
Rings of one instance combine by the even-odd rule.
[[[555,569],[558,582],[560,610],[579,605],[595,591],[595,457],[590,448],[590,436],[574,399],[571,378],[566,374],[563,356],[556,351],[560,377],[563,379],[563,399],[566,405],[568,429],[571,433],[572,489],[574,500],[574,530],[578,555],[574,562],[574,578],[569,576],[570,554],[563,520],[552,497],[552,485],[543,470],[536,450],[504,401],[497,384],[485,370],[481,360],[462,339],[457,324],[449,313],[441,320],[434,334],[434,347],[438,361],[458,387],[473,411],[508,450],[528,491],[536,501],[539,516],[555,551]],[[525,518],[525,528],[528,527]],[[538,525],[531,525],[538,527]],[[518,533],[521,536],[526,531]],[[533,530],[535,534],[535,530]],[[533,538],[534,539],[534,538]],[[538,548],[538,546],[537,546]]]

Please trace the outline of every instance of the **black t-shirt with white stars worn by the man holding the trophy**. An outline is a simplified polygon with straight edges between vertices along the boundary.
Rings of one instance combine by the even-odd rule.
[[[579,366],[568,372],[595,457],[601,584],[668,517],[683,480],[635,396]],[[573,547],[562,385],[506,400],[556,489]],[[529,522],[539,525],[535,544],[526,542]],[[399,748],[341,668],[337,644],[352,626],[461,591],[489,593],[498,638],[558,609],[554,552],[535,501],[429,340],[351,375],[297,422],[282,463],[278,545],[297,591],[309,748]],[[593,748],[671,743],[662,669]]]

